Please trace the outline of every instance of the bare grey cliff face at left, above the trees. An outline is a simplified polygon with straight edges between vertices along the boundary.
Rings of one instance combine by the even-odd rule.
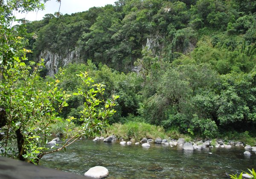
[[[81,48],[76,47],[75,50],[67,50],[65,53],[58,54],[44,49],[38,59],[43,58],[47,68],[47,75],[53,76],[58,72],[59,67],[66,66],[69,63],[82,63],[83,60],[80,55]]]

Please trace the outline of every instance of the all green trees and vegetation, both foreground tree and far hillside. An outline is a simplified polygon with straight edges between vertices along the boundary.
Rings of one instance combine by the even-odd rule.
[[[0,5],[1,155],[38,162],[48,153],[41,144],[50,131],[68,136],[76,125],[75,141],[108,123],[109,134],[136,140],[184,135],[186,141],[255,142],[254,1],[118,0],[14,27],[14,10],[42,4]],[[58,61],[62,69],[46,76],[41,52],[65,58],[73,50],[81,64]],[[14,141],[17,149],[9,145]]]

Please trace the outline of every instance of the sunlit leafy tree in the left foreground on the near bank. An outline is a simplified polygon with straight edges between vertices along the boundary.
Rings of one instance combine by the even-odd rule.
[[[44,60],[38,64],[29,61],[26,54],[31,50],[24,48],[32,34],[26,33],[24,25],[13,27],[12,23],[15,11],[29,12],[43,7],[41,0],[0,1],[0,155],[36,164],[45,154],[65,150],[81,136],[104,130],[108,117],[116,112],[111,108],[118,98],[116,95],[104,98],[105,85],[93,83],[86,72],[80,72],[76,78],[87,88],[76,89],[78,92],[74,94],[63,91],[58,78],[47,81],[39,76]],[[68,132],[68,125],[74,120],[60,117],[71,95],[79,95],[84,101],[77,119],[80,129],[61,147],[50,150],[46,144],[51,124],[65,123]]]

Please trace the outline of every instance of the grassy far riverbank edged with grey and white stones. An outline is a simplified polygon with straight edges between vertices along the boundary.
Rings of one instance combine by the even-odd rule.
[[[52,126],[52,134],[59,136],[73,136],[77,131],[78,127],[75,125],[69,127],[69,133],[66,133],[64,130],[65,124],[64,123],[56,123]],[[128,121],[125,124],[112,124],[106,129],[107,133],[102,133],[101,136],[108,137],[111,135],[115,135],[117,139],[124,139],[126,141],[132,142],[140,142],[141,139],[147,138],[155,140],[157,138],[160,139],[179,139],[183,138],[186,142],[198,142],[198,141],[212,141],[213,145],[216,141],[223,141],[224,144],[229,144],[231,141],[237,142],[238,144],[244,145],[251,145],[254,146],[256,144],[256,137],[250,136],[248,131],[244,133],[238,133],[236,131],[226,131],[222,133],[218,133],[212,139],[203,137],[203,136],[193,136],[189,134],[180,133],[177,129],[172,129],[165,131],[161,126],[151,125],[145,122],[135,122],[135,121]],[[94,138],[95,136],[99,136],[94,134],[91,136]],[[231,142],[233,144],[233,142]],[[217,144],[217,143],[216,143]]]

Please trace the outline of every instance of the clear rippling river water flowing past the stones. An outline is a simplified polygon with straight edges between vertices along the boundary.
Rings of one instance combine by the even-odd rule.
[[[97,165],[109,170],[108,179],[121,178],[230,178],[228,174],[256,169],[256,153],[243,147],[183,150],[163,144],[120,145],[92,140],[77,141],[66,153],[46,155],[40,164],[83,175]],[[212,154],[209,154],[212,153]]]

